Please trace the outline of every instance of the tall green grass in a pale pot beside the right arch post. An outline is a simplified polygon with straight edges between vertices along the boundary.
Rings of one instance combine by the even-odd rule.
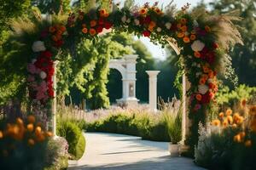
[[[182,139],[182,118],[180,111],[180,107],[176,111],[175,109],[168,108],[163,110],[167,131],[171,140],[168,148],[173,157],[180,156],[179,142]]]

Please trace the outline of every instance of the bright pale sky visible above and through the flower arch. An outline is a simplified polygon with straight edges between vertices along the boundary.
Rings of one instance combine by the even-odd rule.
[[[115,3],[123,3],[125,0],[114,0]],[[151,4],[154,4],[154,2],[159,2],[159,4],[163,4],[166,6],[168,3],[171,2],[171,0],[135,0],[135,4],[138,4],[142,6],[144,3],[150,2]],[[180,9],[185,5],[186,3],[190,3],[191,7],[195,7],[197,3],[200,3],[201,0],[174,0],[173,4],[177,4],[177,9]],[[204,0],[205,3],[212,2],[212,0]],[[135,37],[137,39],[137,37]],[[166,59],[166,51],[160,47],[160,45],[154,45],[152,42],[149,41],[148,37],[141,37],[140,40],[146,45],[148,50],[151,52],[153,57],[155,59]]]

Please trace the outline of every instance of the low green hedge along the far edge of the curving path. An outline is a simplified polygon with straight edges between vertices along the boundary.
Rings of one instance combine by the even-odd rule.
[[[166,122],[147,113],[117,113],[84,125],[89,132],[122,133],[155,141],[170,141]]]

